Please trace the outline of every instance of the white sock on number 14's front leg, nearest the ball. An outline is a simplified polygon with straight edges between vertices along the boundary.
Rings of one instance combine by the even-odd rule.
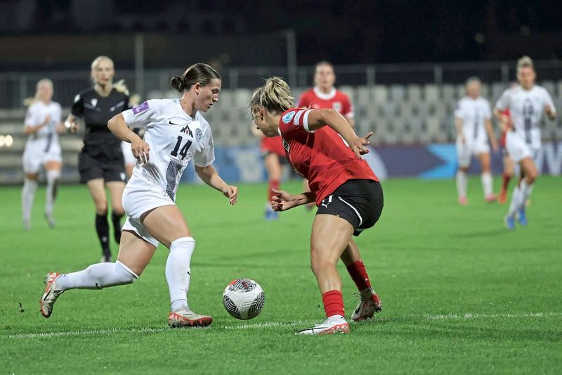
[[[191,279],[190,262],[195,250],[192,237],[181,237],[170,245],[166,261],[166,281],[170,289],[171,310],[188,307],[188,291]]]

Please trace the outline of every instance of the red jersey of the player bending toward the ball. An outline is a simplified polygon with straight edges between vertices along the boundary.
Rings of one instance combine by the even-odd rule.
[[[312,110],[293,108],[279,120],[279,132],[287,160],[296,172],[308,179],[316,205],[348,179],[379,181],[367,162],[355,156],[346,141],[331,127],[308,130]]]

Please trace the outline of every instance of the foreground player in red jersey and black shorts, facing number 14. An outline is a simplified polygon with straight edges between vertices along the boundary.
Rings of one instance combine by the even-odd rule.
[[[351,239],[372,227],[381,215],[383,193],[377,176],[361,154],[372,132],[355,135],[346,119],[333,109],[295,108],[289,85],[278,77],[254,91],[249,108],[265,136],[280,134],[289,163],[307,178],[311,191],[292,195],[275,191],[271,205],[285,211],[315,202],[318,211],[311,235],[311,267],[318,280],[327,319],[301,334],[347,333],[341,279],[341,259],[360,291],[351,319],[370,319],[381,310],[357,245]]]

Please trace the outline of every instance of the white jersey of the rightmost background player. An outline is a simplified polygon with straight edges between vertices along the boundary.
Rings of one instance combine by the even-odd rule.
[[[535,85],[525,90],[516,86],[504,91],[497,100],[496,108],[500,111],[509,108],[515,134],[532,148],[540,148],[539,125],[547,104],[556,111],[550,94],[543,87]]]

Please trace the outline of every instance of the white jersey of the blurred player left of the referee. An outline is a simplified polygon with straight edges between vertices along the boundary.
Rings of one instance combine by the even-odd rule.
[[[25,127],[36,127],[45,122],[47,116],[51,116],[48,124],[41,127],[37,132],[30,134],[27,137],[25,144],[26,151],[44,152],[48,153],[51,147],[58,147],[58,133],[57,125],[60,124],[62,117],[62,109],[60,104],[54,101],[45,104],[42,101],[36,101],[30,108],[27,109],[25,114]]]

